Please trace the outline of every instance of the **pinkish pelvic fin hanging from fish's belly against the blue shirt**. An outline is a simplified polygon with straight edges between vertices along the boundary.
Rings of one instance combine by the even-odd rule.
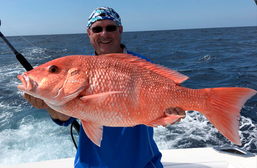
[[[85,120],[81,120],[81,124],[84,128],[84,131],[87,135],[87,137],[97,146],[100,147],[101,145],[101,140],[102,140],[102,130],[103,130],[103,126],[95,123],[95,122],[91,122],[91,121],[85,121]]]

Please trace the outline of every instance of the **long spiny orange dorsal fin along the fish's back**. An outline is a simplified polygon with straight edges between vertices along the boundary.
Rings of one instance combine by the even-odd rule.
[[[124,53],[111,53],[111,54],[105,54],[105,55],[99,55],[99,56],[108,56],[108,57],[114,57],[117,59],[122,59],[124,61],[137,64],[141,67],[145,67],[147,69],[150,69],[158,74],[161,74],[169,79],[172,79],[175,83],[182,83],[189,77],[181,74],[180,72],[176,70],[172,70],[168,67],[162,66],[160,64],[154,64],[152,62],[147,61],[146,59],[143,59],[138,56],[134,56],[132,54],[124,54]]]

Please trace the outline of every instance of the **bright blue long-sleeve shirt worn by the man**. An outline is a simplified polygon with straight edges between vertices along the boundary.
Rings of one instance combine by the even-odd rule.
[[[143,55],[129,50],[126,52],[150,61]],[[74,119],[71,117],[67,121],[54,122],[67,126]],[[153,135],[153,127],[143,124],[133,127],[103,126],[101,147],[98,147],[87,137],[80,125],[74,167],[163,167],[162,154]]]

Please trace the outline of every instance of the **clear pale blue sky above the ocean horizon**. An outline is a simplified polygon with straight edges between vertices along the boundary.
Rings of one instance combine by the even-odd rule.
[[[1,0],[0,6],[5,36],[86,33],[89,15],[101,6],[120,15],[123,31],[257,26],[254,0]]]

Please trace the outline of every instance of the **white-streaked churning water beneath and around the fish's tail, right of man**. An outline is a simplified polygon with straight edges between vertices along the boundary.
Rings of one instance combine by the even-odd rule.
[[[203,114],[197,111],[186,113],[186,118],[179,123],[154,128],[154,139],[160,149],[237,146],[221,135]],[[257,124],[241,116],[239,135],[242,142],[240,147],[256,154]]]

